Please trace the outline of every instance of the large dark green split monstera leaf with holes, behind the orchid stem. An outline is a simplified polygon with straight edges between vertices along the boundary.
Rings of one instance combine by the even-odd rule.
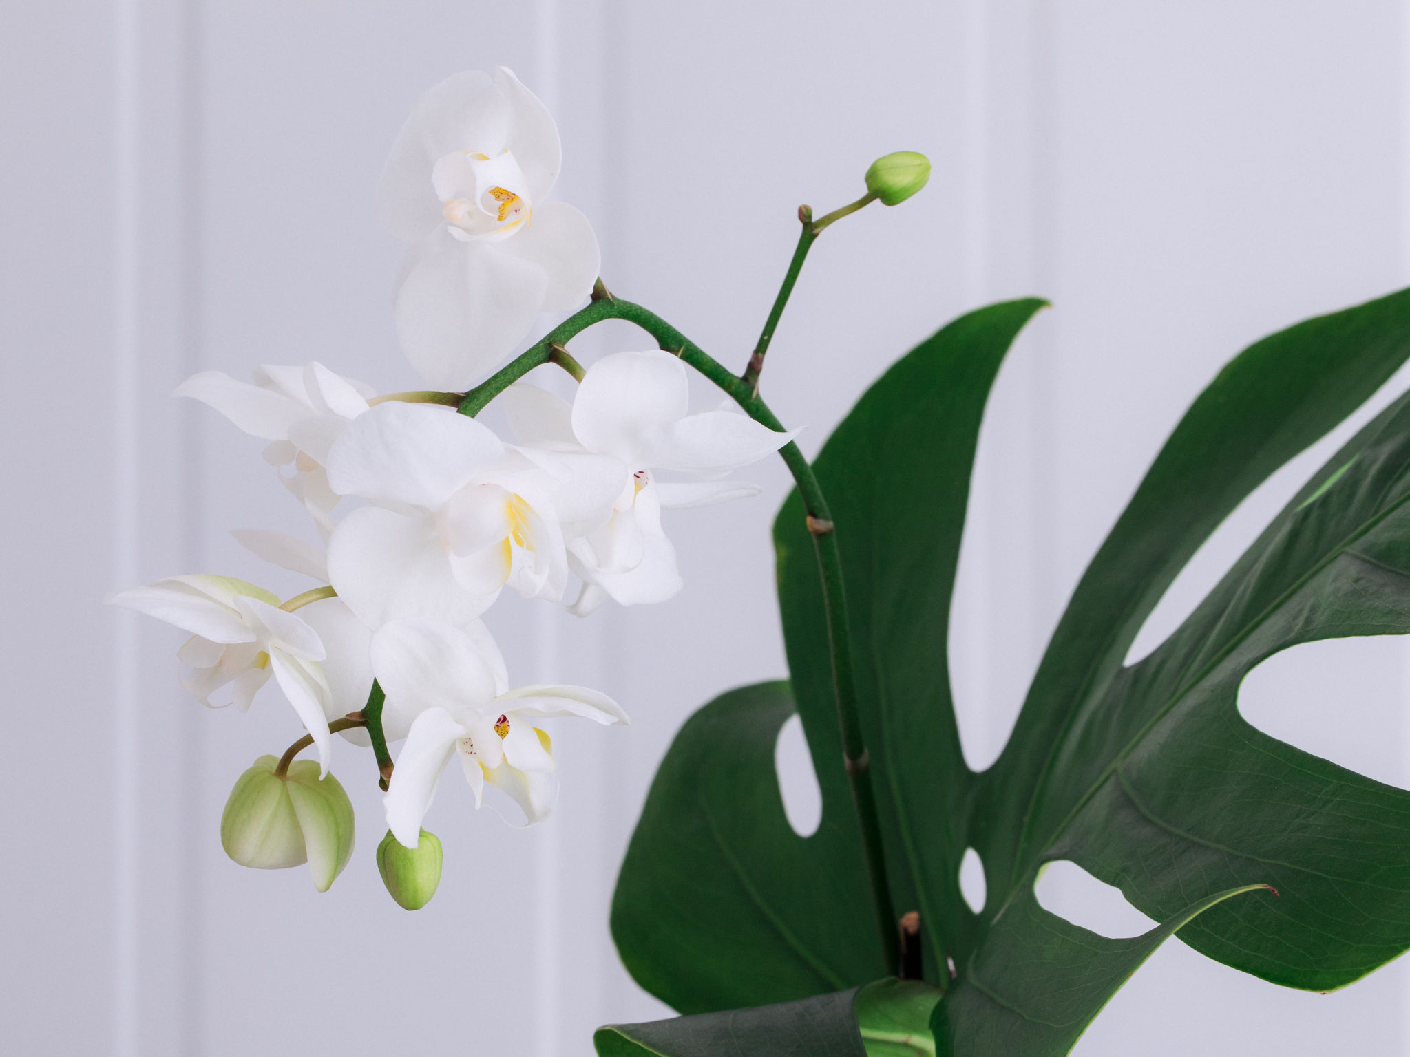
[[[1301,323],[1224,368],[1074,591],[1003,755],[974,774],[950,700],[950,595],[984,402],[1039,307],[995,304],[945,327],[866,393],[815,464],[846,574],[891,899],[921,917],[924,975],[943,992],[928,1013],[940,1054],[1066,1053],[1176,932],[1317,991],[1410,947],[1410,793],[1268,737],[1237,707],[1241,679],[1279,650],[1410,631],[1410,396],[1307,482],[1175,634],[1124,664],[1220,521],[1410,355],[1410,293]],[[873,925],[797,495],[774,538],[791,682],[733,691],[685,724],[613,901],[627,968],[684,1013],[845,1001],[894,971]],[[823,801],[807,839],[784,817],[773,762],[795,710]],[[977,915],[959,892],[970,847],[987,879]],[[1112,940],[1048,913],[1034,884],[1053,860],[1162,925]],[[695,1022],[651,1027],[650,1051],[701,1051],[684,1041],[702,1037]],[[816,1023],[791,1053],[853,1051],[846,1016]]]

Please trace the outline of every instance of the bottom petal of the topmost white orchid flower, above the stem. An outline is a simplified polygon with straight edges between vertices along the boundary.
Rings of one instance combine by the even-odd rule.
[[[402,351],[436,389],[470,389],[513,352],[548,289],[544,269],[505,242],[462,242],[436,233],[396,292]]]

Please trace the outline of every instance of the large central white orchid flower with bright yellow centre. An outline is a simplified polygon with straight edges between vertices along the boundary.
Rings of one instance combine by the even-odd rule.
[[[462,626],[508,583],[561,599],[568,564],[560,519],[611,505],[618,466],[578,457],[534,462],[482,423],[439,404],[385,403],[329,452],[329,481],[374,506],[329,541],[338,596],[369,627],[406,616]]]

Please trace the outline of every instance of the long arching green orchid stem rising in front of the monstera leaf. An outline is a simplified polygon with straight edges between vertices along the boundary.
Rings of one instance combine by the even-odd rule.
[[[804,244],[799,242],[799,245]],[[799,254],[795,254],[794,259],[795,264],[801,265],[802,256]],[[780,311],[783,310],[781,306],[776,307]],[[594,300],[582,311],[568,317],[527,352],[489,378],[489,381],[465,393],[465,399],[460,404],[461,414],[477,414],[510,383],[523,378],[533,368],[551,362],[550,355],[554,345],[561,345],[592,324],[609,319],[636,324],[650,334],[661,350],[680,357],[685,364],[689,364],[705,375],[706,379],[723,389],[754,421],[767,426],[776,433],[784,433],[783,423],[759,399],[753,382],[728,371],[713,357],[656,313],[620,297]],[[871,757],[862,737],[862,719],[857,710],[856,676],[852,668],[852,627],[847,619],[847,599],[842,576],[842,552],[838,550],[838,534],[832,524],[828,500],[808,459],[792,441],[785,444],[778,454],[783,457],[798,486],[798,495],[802,499],[807,514],[808,531],[812,534],[814,550],[818,558],[818,572],[822,579],[822,598],[828,620],[828,647],[832,655],[832,689],[838,706],[838,726],[842,731],[843,767],[847,772],[853,802],[857,809],[857,822],[862,827],[862,843],[867,860],[867,877],[871,882],[871,901],[877,917],[881,951],[885,958],[887,971],[894,972],[900,964],[900,939],[897,936],[895,912],[891,906],[891,888],[887,881],[885,853],[881,844],[881,820],[877,815],[876,792],[871,788]],[[371,723],[368,726],[371,729]]]

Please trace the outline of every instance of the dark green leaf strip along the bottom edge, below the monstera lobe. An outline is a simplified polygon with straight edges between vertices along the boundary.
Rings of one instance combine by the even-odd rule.
[[[856,988],[757,1009],[609,1025],[598,1057],[867,1057],[857,1034]]]

